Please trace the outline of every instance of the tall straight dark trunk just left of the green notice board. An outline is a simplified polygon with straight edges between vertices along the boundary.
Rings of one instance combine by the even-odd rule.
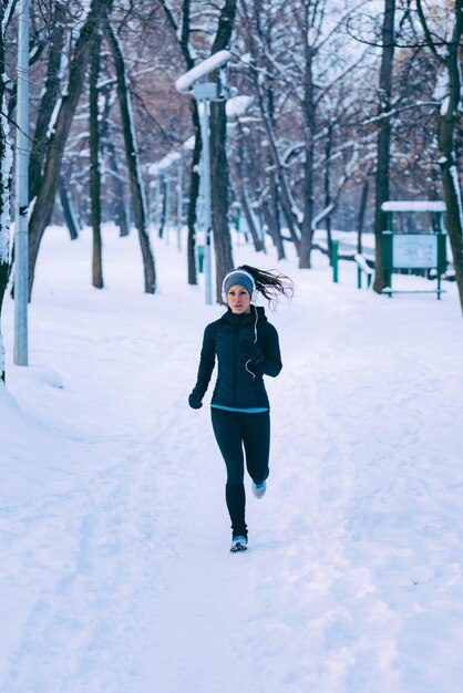
[[[395,0],[384,0],[384,19],[382,25],[382,56],[379,85],[379,107],[378,107],[378,156],[375,175],[375,199],[374,199],[374,239],[375,239],[375,261],[374,261],[374,285],[373,289],[378,293],[385,287],[381,237],[384,230],[384,213],[381,205],[389,199],[389,177],[390,177],[390,147],[391,147],[391,120],[388,113],[391,107],[392,94],[392,71],[394,61],[394,14]]]

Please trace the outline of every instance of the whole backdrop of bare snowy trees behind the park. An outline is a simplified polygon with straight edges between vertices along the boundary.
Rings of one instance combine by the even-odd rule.
[[[16,118],[17,2],[2,0],[0,307]],[[92,227],[92,282],[104,286],[101,225],[140,239],[144,289],[156,290],[150,166],[182,151],[187,280],[196,277],[202,136],[179,74],[233,53],[212,79],[217,286],[233,266],[239,209],[257,251],[294,244],[310,268],[313,234],[366,228],[385,199],[444,199],[463,307],[462,0],[31,0],[30,291],[47,227]],[[191,139],[192,138],[192,139]],[[184,143],[191,139],[187,149]],[[161,217],[160,217],[161,224]],[[361,247],[361,240],[359,241]],[[383,288],[377,244],[375,289]],[[218,298],[217,289],[217,298]]]

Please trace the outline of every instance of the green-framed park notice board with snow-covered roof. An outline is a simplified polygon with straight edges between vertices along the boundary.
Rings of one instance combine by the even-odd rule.
[[[445,205],[441,201],[387,201],[381,206],[387,215],[387,230],[381,235],[382,260],[387,288],[383,293],[392,296],[399,291],[392,289],[394,270],[435,270],[438,288],[420,293],[433,292],[441,298],[441,276],[446,270],[446,237],[443,224]],[[407,214],[404,217],[399,215]],[[421,230],[415,216],[426,215],[425,230]],[[394,217],[395,215],[395,217]],[[394,228],[394,221],[398,220]],[[418,230],[415,230],[415,227]],[[403,292],[403,291],[400,291]]]

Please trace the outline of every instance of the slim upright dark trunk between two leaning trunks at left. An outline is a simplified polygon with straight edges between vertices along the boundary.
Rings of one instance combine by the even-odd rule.
[[[90,59],[90,203],[92,210],[93,229],[93,256],[92,256],[92,285],[95,289],[102,289],[103,258],[101,240],[101,172],[100,172],[100,123],[99,123],[99,89],[101,34],[96,33]]]

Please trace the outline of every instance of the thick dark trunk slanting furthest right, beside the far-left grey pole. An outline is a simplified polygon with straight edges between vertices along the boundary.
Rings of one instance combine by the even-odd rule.
[[[54,198],[60,182],[64,146],[82,93],[91,44],[95,31],[97,31],[99,24],[111,8],[111,4],[112,0],[92,0],[86,21],[75,43],[69,74],[68,92],[61,101],[54,133],[50,138],[43,174],[40,179],[40,187],[29,223],[29,298],[32,292],[40,244],[53,211]]]

